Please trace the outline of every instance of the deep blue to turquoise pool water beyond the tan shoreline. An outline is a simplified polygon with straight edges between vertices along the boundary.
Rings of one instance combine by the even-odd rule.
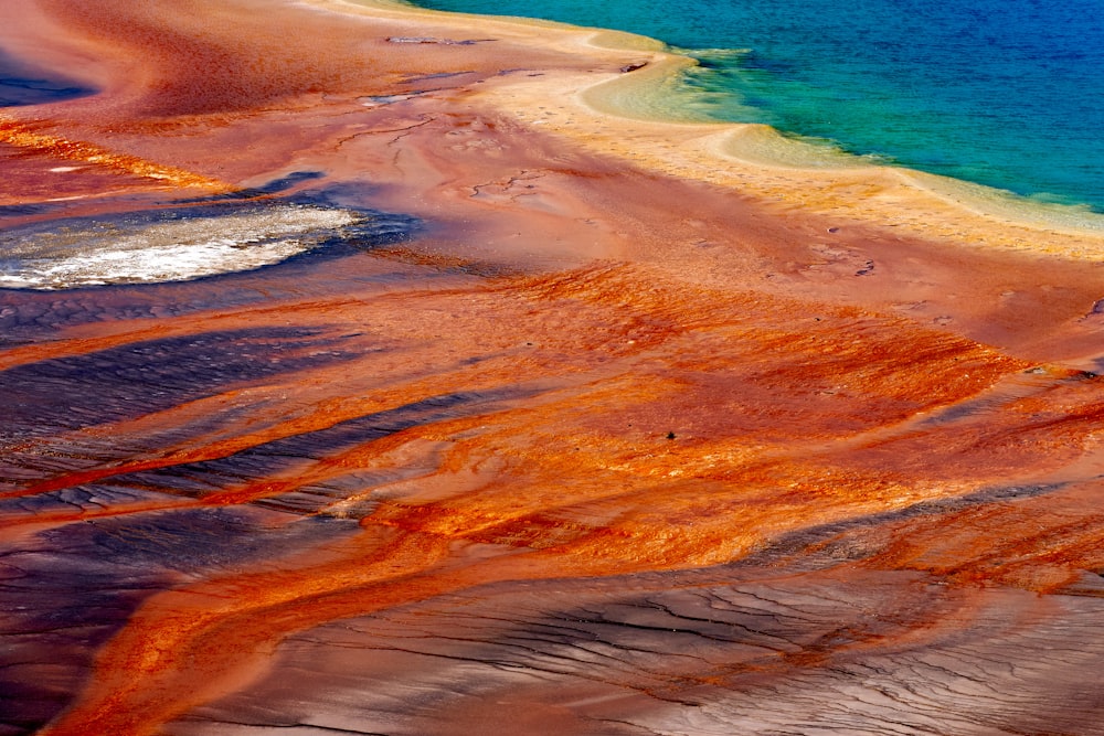
[[[1104,212],[1104,0],[418,0],[631,31],[696,113]]]

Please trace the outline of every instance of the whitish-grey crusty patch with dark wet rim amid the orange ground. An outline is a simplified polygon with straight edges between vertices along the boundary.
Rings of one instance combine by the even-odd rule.
[[[316,204],[325,193],[250,201],[265,193],[259,188],[213,198],[221,200],[216,204],[8,228],[0,236],[0,288],[184,281],[307,254],[333,257],[338,249],[379,247],[405,239],[415,227],[410,217]]]

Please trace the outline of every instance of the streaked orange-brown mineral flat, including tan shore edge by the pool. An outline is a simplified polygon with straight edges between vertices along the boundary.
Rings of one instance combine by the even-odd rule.
[[[6,114],[6,222],[421,225],[3,291],[4,733],[1098,733],[1097,234],[596,111],[643,40],[17,4],[102,92]]]

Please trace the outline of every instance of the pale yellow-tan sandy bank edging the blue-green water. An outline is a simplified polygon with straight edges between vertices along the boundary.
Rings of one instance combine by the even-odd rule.
[[[902,235],[1078,259],[1104,256],[1104,216],[1089,211],[832,156],[763,125],[657,119],[661,98],[694,62],[650,39],[538,20],[443,13],[388,0],[310,4],[379,19],[418,17],[449,29],[455,39],[495,38],[592,57],[603,71],[503,76],[484,85],[475,98],[519,124],[639,168],[718,184],[783,210],[894,228]]]

